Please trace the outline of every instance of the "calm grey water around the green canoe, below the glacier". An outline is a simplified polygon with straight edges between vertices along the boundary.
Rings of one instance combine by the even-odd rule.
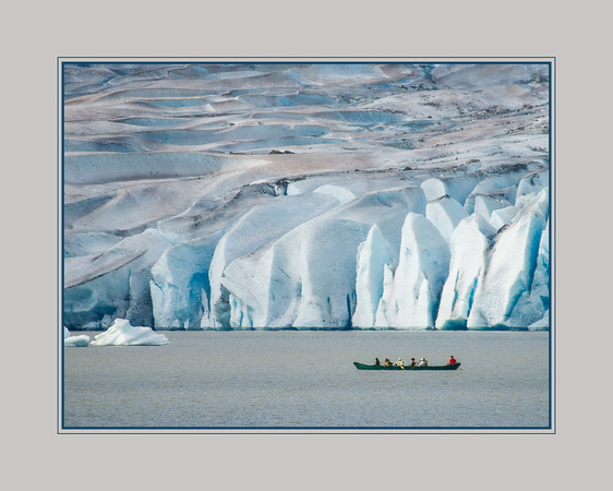
[[[546,332],[164,334],[169,345],[65,348],[63,427],[550,426]],[[461,370],[352,364],[449,355]]]

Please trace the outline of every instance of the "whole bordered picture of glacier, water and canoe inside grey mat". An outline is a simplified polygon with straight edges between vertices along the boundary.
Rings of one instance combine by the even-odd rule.
[[[554,433],[554,58],[58,59],[60,433]]]

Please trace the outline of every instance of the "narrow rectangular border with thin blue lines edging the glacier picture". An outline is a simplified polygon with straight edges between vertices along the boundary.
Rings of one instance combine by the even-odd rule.
[[[91,57],[88,59],[109,59],[111,57]],[[152,58],[152,59],[172,59],[176,60],[175,63],[180,63],[180,61],[177,61],[177,58],[167,58],[167,57],[163,57],[163,58],[158,58],[158,57],[139,57],[141,59],[146,59],[146,58]],[[315,57],[314,57],[315,58]],[[402,60],[402,61],[394,61],[392,63],[410,63],[410,60],[417,60],[417,59],[424,59],[424,60],[433,60],[433,59],[466,59],[469,57],[413,57],[413,58],[402,58],[402,57],[388,57],[388,58],[384,58],[385,60],[392,60],[392,59],[397,59],[397,60]],[[492,59],[493,57],[472,57],[473,59]],[[517,60],[518,57],[497,57],[496,59],[514,59]],[[521,57],[519,57],[521,58]],[[531,61],[531,60],[536,60],[536,59],[549,59],[549,61]],[[248,429],[245,428],[235,428],[235,427],[64,427],[64,400],[63,400],[63,393],[64,393],[64,346],[63,343],[60,345],[60,340],[61,340],[61,336],[60,336],[60,331],[61,327],[63,326],[63,278],[64,278],[64,263],[63,263],[63,254],[64,254],[64,240],[63,240],[63,221],[64,221],[64,215],[63,215],[63,196],[64,196],[64,155],[63,155],[63,135],[64,135],[64,70],[63,67],[65,64],[87,64],[89,63],[88,61],[80,61],[80,62],[68,62],[68,61],[63,61],[65,59],[81,59],[79,57],[58,57],[57,58],[57,62],[58,62],[58,70],[61,70],[61,72],[58,73],[58,83],[60,83],[61,86],[61,95],[58,94],[57,95],[57,100],[58,100],[58,106],[60,106],[60,100],[61,100],[61,108],[58,107],[58,110],[61,111],[61,140],[60,140],[60,134],[59,134],[59,127],[58,127],[58,131],[57,131],[57,137],[58,137],[58,144],[57,144],[57,152],[58,152],[58,166],[61,167],[58,169],[58,175],[57,175],[57,179],[58,181],[60,180],[60,173],[61,173],[61,184],[58,183],[58,188],[60,188],[60,192],[61,192],[61,204],[62,204],[62,208],[61,208],[61,219],[60,219],[60,225],[61,225],[61,231],[57,231],[57,238],[59,239],[60,233],[62,237],[62,241],[61,241],[61,256],[58,256],[58,266],[57,270],[58,272],[61,270],[61,284],[62,284],[62,288],[60,288],[60,291],[58,292],[57,297],[58,300],[61,298],[61,303],[58,303],[58,308],[61,308],[61,312],[58,312],[58,320],[61,320],[60,325],[58,326],[58,338],[57,338],[57,344],[58,344],[58,350],[61,349],[61,360],[58,360],[58,376],[60,376],[60,364],[61,364],[61,404],[58,400],[58,405],[61,406],[60,409],[60,414],[61,414],[61,423],[60,421],[58,421],[58,424],[60,428],[58,428],[58,434],[152,434],[151,430],[154,430],[154,434],[555,434],[556,430],[555,430],[555,405],[553,402],[553,397],[552,397],[552,387],[553,384],[555,384],[556,378],[555,374],[553,373],[553,369],[552,369],[552,357],[554,359],[555,358],[555,350],[553,349],[554,346],[552,346],[552,339],[553,339],[553,345],[555,345],[555,336],[553,335],[553,331],[554,331],[554,312],[553,309],[551,308],[551,302],[550,302],[550,326],[549,326],[549,338],[550,338],[550,386],[549,386],[549,393],[550,393],[550,415],[549,415],[549,426],[546,427],[249,427]],[[117,57],[116,59],[132,59],[131,57]],[[208,59],[219,59],[219,60],[227,60],[227,59],[260,59],[261,58],[252,58],[252,57],[245,57],[245,58],[238,58],[238,57],[229,57],[229,58],[224,58],[224,57],[188,57],[188,58],[182,58],[184,60],[188,59],[201,59],[203,60],[203,62],[206,62],[204,60],[208,60]],[[274,58],[269,58],[269,59],[274,59]],[[311,57],[298,57],[298,58],[277,58],[277,59],[283,59],[283,60],[296,60],[296,59],[309,59],[312,60],[313,58]],[[320,58],[321,59],[321,58]],[[335,58],[337,59],[337,58]],[[371,58],[371,57],[366,57],[366,58],[361,58],[361,57],[346,57],[345,59],[360,59],[360,60],[380,60],[380,62],[384,62],[382,61],[381,58]],[[555,124],[554,124],[554,118],[552,117],[553,115],[553,104],[556,103],[556,92],[555,92],[555,77],[557,75],[557,72],[555,70],[555,61],[556,58],[555,57],[528,57],[526,59],[526,61],[509,61],[509,62],[497,62],[497,61],[479,61],[479,62],[472,62],[472,61],[456,61],[456,62],[442,62],[441,64],[548,64],[549,65],[549,74],[550,74],[550,93],[549,93],[549,141],[550,141],[550,181],[551,181],[551,177],[553,176],[553,181],[554,184],[556,184],[556,173],[553,172],[553,166],[554,166],[554,160],[556,159],[556,152],[553,152],[553,156],[554,159],[552,159],[552,141],[553,144],[556,144],[556,135],[552,135],[552,129],[555,130]],[[105,64],[110,64],[110,63],[127,63],[125,61],[123,62],[115,62],[115,61],[106,61],[104,62]],[[163,62],[146,62],[146,61],[134,61],[132,62],[132,64],[161,64]],[[274,61],[260,61],[259,64],[264,64],[264,63],[275,63]],[[292,61],[286,61],[286,63],[291,64],[293,63]],[[338,63],[338,64],[347,64],[347,63],[351,63],[348,61],[312,61],[312,63]],[[353,62],[353,63],[366,63],[366,61],[361,61],[361,62]],[[552,79],[552,71],[555,72],[554,77]],[[553,100],[553,104],[552,104]],[[61,152],[61,156],[60,156],[60,152]],[[556,194],[556,190],[555,190],[555,185],[550,185],[551,188],[553,188],[553,194]],[[550,195],[550,215],[551,215],[551,209],[553,208],[552,206],[552,195]],[[60,200],[58,199],[57,202],[57,213],[58,216],[60,216]],[[552,221],[555,223],[555,213],[554,215],[554,219]],[[553,229],[555,230],[555,227],[553,227]],[[549,242],[550,242],[550,251],[553,250],[553,248],[555,246],[553,246],[553,231],[550,227],[550,237],[549,237]],[[57,251],[59,251],[59,247],[56,246]],[[553,255],[553,264],[554,267],[553,270],[555,271],[555,254]],[[61,262],[61,264],[60,264]],[[550,267],[551,271],[551,267]],[[549,278],[549,283],[550,283],[550,292],[553,292],[553,297],[555,298],[555,290],[552,289],[552,275],[550,273],[550,278]],[[553,303],[555,304],[555,302]],[[554,322],[552,322],[554,321]],[[60,348],[61,346],[61,348]],[[553,378],[553,380],[552,380]],[[60,386],[60,385],[58,385]],[[58,394],[58,398],[59,394]],[[553,418],[553,422],[552,422],[552,418]],[[62,433],[60,430],[67,430],[67,431],[74,431],[74,433]],[[80,430],[89,430],[89,432],[87,431],[80,431]],[[95,432],[94,430],[100,430],[104,431],[104,433],[98,433]],[[117,432],[108,432],[106,430],[128,430],[128,431],[117,431]],[[130,432],[130,430],[134,430],[132,432]],[[158,433],[155,433],[155,430],[158,431]],[[185,431],[185,432],[159,432],[160,430],[191,430],[190,431]],[[200,431],[199,431],[200,430]],[[208,432],[205,432],[206,430],[208,430]],[[232,430],[238,430],[238,431],[232,431]],[[271,430],[269,432],[262,432],[260,430]],[[287,431],[290,430],[290,431]],[[318,431],[312,431],[312,430],[318,430]],[[332,431],[326,431],[326,430],[332,430]],[[361,430],[361,431],[352,431],[352,430]],[[373,431],[369,431],[369,430],[373,430]],[[429,430],[443,430],[441,432],[435,432],[435,433],[428,433]],[[455,430],[459,430],[459,431],[455,431]],[[478,432],[474,431],[470,431],[470,430],[479,430]],[[504,432],[492,432],[490,430],[501,430]],[[519,431],[517,431],[519,430]],[[531,432],[526,432],[522,430],[533,430]],[[550,430],[551,432],[545,432],[543,433],[543,430]],[[257,433],[253,433],[254,431],[257,431]],[[303,433],[304,431],[309,431],[309,433]],[[338,431],[338,433],[335,433],[335,431]],[[423,433],[422,433],[423,432]]]

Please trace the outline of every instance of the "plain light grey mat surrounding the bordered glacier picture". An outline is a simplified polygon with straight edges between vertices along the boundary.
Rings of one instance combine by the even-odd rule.
[[[612,73],[600,5],[13,4],[0,34],[8,489],[599,489],[610,466],[612,345],[610,225],[599,216],[611,208]],[[57,57],[79,56],[557,57],[557,433],[58,435],[56,68]],[[578,369],[585,357],[589,371]]]

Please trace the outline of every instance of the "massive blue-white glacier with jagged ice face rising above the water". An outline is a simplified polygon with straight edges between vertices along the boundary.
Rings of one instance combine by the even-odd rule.
[[[549,97],[546,63],[64,63],[63,324],[548,330]]]

